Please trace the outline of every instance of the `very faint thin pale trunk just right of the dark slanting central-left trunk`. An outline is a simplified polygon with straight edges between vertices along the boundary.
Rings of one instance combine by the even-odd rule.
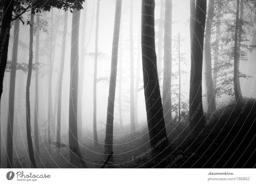
[[[122,16],[121,16],[122,17]],[[118,93],[118,106],[119,106],[119,119],[120,125],[123,125],[123,118],[122,118],[122,21],[120,22],[120,39],[119,39],[119,93]]]

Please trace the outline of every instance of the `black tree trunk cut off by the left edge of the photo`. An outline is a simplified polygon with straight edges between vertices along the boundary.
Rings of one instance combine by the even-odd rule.
[[[13,2],[14,1],[5,1],[4,5],[4,15],[2,18],[1,32],[0,32],[0,43],[4,43],[4,45],[0,46],[0,104],[1,104],[1,96],[3,93],[3,82],[4,82],[4,71],[7,63],[7,54],[8,54],[8,46],[9,46],[9,37],[10,37],[10,27],[12,22],[12,11],[13,11]],[[0,121],[1,127],[1,121]],[[1,129],[0,129],[1,132]],[[1,137],[1,136],[0,136]],[[0,138],[1,142],[1,138]],[[1,149],[0,149],[0,158],[1,158]],[[0,159],[0,168],[1,167],[1,159]]]

